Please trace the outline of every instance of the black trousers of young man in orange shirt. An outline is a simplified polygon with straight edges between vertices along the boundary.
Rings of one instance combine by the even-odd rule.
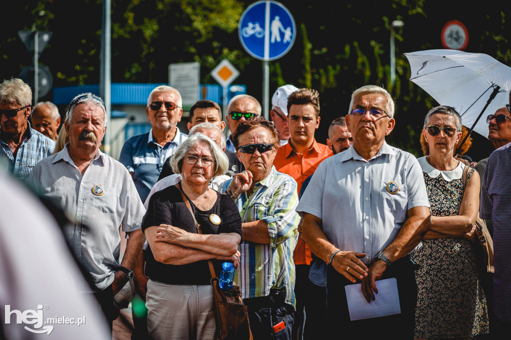
[[[318,339],[326,336],[327,289],[309,280],[307,264],[295,265],[296,312],[294,313],[293,340]],[[305,311],[305,312],[304,312]]]

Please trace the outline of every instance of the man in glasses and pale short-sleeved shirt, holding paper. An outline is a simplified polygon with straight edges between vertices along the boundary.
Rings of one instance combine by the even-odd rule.
[[[296,208],[304,217],[305,241],[329,267],[329,324],[337,330],[356,326],[364,337],[385,329],[395,338],[413,337],[415,267],[407,255],[430,229],[419,163],[385,142],[396,123],[393,114],[385,89],[357,89],[346,115],[353,144],[318,166]],[[401,313],[351,321],[344,286],[361,283],[370,304],[379,298],[376,280],[386,278],[397,279]]]

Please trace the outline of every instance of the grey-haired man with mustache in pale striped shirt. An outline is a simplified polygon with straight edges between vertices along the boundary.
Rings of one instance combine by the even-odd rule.
[[[101,98],[76,96],[64,123],[69,143],[37,163],[27,182],[70,217],[64,237],[90,274],[90,285],[79,282],[78,289],[94,293],[111,327],[119,315],[113,297],[133,280],[132,269],[142,253],[145,209],[126,167],[99,150],[105,112]],[[129,236],[121,263],[119,226]]]

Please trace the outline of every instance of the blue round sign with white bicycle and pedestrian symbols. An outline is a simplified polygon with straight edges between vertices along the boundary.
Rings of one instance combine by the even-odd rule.
[[[289,10],[275,1],[258,1],[241,16],[238,26],[241,44],[259,60],[275,60],[289,52],[296,25]]]

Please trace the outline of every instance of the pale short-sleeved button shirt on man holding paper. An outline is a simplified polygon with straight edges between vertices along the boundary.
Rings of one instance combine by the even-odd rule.
[[[417,206],[430,206],[419,162],[383,142],[368,161],[352,145],[321,162],[296,211],[321,218],[323,232],[336,247],[365,253],[363,261],[369,263]]]

